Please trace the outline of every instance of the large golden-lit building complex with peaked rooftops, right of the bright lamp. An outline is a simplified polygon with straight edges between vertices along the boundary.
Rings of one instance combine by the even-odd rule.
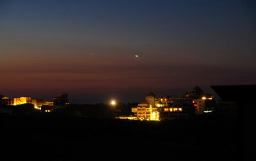
[[[169,120],[212,112],[215,106],[215,97],[195,86],[191,92],[186,92],[182,97],[156,98],[153,93],[149,93],[145,102],[132,108],[132,113],[137,120]]]

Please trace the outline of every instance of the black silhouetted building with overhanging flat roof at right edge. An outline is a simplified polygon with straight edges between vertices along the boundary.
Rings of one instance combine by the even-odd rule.
[[[256,85],[211,86],[221,101],[237,104],[237,135],[239,160],[256,160],[255,154],[255,91]],[[254,158],[254,159],[253,159]]]

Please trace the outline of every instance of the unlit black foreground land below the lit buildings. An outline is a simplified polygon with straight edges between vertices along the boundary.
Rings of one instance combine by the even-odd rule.
[[[96,160],[240,160],[233,114],[165,122],[0,118],[1,157]],[[1,159],[2,160],[2,159]]]

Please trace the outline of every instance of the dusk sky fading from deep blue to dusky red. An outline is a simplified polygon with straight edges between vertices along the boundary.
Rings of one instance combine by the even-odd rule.
[[[256,1],[0,0],[0,93],[135,102],[256,84],[255,42]]]

